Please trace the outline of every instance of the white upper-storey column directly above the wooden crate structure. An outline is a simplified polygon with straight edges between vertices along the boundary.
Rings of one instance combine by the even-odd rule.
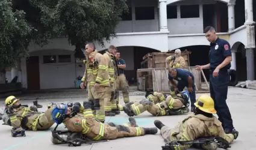
[[[160,31],[168,31],[167,28],[167,0],[159,0],[159,11],[160,11]]]

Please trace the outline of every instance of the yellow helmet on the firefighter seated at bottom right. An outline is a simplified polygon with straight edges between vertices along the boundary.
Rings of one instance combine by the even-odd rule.
[[[201,95],[194,104],[196,107],[198,107],[198,109],[202,110],[203,112],[216,113],[216,110],[214,109],[213,98],[208,95]]]

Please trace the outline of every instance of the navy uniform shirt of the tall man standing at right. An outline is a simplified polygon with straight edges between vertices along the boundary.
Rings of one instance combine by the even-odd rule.
[[[210,47],[209,59],[211,70],[214,70],[218,65],[220,65],[226,56],[232,56],[230,45],[226,40],[217,38],[216,41],[210,43]],[[230,67],[231,63],[223,67],[223,69],[228,70]]]

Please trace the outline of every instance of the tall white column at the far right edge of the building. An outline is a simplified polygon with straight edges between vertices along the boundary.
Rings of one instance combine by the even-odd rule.
[[[255,29],[254,14],[252,10],[252,0],[245,0],[245,26],[246,26],[246,65],[247,80],[255,80],[254,76],[254,49],[255,49]]]

